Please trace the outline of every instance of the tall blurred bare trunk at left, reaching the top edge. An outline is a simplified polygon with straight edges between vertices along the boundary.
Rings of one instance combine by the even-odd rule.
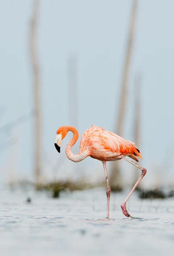
[[[36,29],[39,10],[39,0],[34,0],[32,16],[29,29],[29,50],[31,55],[31,65],[33,71],[33,93],[35,110],[35,138],[34,138],[34,157],[35,157],[35,178],[36,186],[41,182],[41,116],[40,116],[40,74],[37,60]]]

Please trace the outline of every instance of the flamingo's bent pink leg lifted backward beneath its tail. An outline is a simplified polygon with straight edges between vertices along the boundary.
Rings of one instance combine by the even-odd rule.
[[[145,168],[143,168],[143,167],[141,167],[139,164],[134,163],[133,161],[127,159],[126,157],[121,156],[121,158],[124,159],[124,160],[126,160],[127,162],[133,164],[134,166],[138,167],[138,168],[142,171],[142,174],[141,174],[140,178],[137,180],[137,182],[135,183],[134,187],[131,189],[131,192],[128,194],[126,200],[123,202],[123,204],[121,204],[121,209],[122,209],[122,211],[123,211],[123,214],[124,214],[126,217],[129,217],[130,214],[128,213],[128,211],[127,211],[127,209],[126,209],[126,203],[127,203],[128,199],[130,198],[130,196],[131,196],[132,192],[134,191],[134,189],[137,187],[137,185],[138,185],[138,183],[140,182],[140,180],[142,180],[143,177],[145,176],[145,174],[146,174],[147,171],[146,171]]]

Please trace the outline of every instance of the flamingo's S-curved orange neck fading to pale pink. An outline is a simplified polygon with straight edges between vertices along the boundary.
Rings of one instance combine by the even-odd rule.
[[[69,160],[71,160],[73,162],[80,162],[83,159],[85,159],[86,157],[88,157],[88,155],[89,155],[88,151],[85,150],[83,152],[79,152],[77,155],[74,155],[71,152],[71,148],[76,143],[76,141],[78,140],[79,134],[78,134],[78,131],[77,131],[76,128],[74,128],[72,126],[68,126],[67,128],[68,128],[68,131],[73,132],[73,137],[66,146],[66,150],[65,150],[66,156],[68,157]]]

